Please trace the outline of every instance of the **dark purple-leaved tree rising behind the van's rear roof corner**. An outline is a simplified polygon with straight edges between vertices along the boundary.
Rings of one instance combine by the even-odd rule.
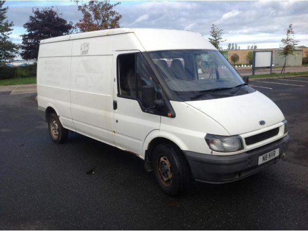
[[[24,60],[36,60],[40,41],[50,37],[69,34],[72,29],[72,22],[67,22],[62,14],[53,7],[42,10],[32,8],[33,15],[24,24],[27,30],[22,36],[22,58]]]

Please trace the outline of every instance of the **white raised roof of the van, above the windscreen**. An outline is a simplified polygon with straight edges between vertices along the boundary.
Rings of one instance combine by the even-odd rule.
[[[107,30],[98,30],[77,34],[69,34],[59,37],[52,37],[41,40],[40,44],[53,43],[68,40],[77,40],[80,38],[90,38],[99,36],[109,36],[116,34],[134,33],[142,44],[144,50],[160,49],[216,49],[200,33],[176,30],[176,29],[148,29],[148,28],[115,28]],[[190,41],[194,43],[190,43]]]

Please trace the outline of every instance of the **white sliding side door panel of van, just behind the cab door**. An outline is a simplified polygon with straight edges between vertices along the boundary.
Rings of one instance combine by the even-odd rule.
[[[71,111],[76,131],[114,145],[109,36],[74,40],[71,58]]]

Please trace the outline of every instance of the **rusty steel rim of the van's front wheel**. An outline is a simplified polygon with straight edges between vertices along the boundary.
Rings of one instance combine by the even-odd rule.
[[[157,164],[159,177],[163,185],[170,186],[172,184],[172,169],[168,158],[164,155],[160,155]]]

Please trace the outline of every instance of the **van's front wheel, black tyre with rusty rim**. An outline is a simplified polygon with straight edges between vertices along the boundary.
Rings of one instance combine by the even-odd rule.
[[[168,143],[157,145],[152,152],[152,165],[155,178],[165,194],[176,196],[188,188],[190,169],[179,148]]]

